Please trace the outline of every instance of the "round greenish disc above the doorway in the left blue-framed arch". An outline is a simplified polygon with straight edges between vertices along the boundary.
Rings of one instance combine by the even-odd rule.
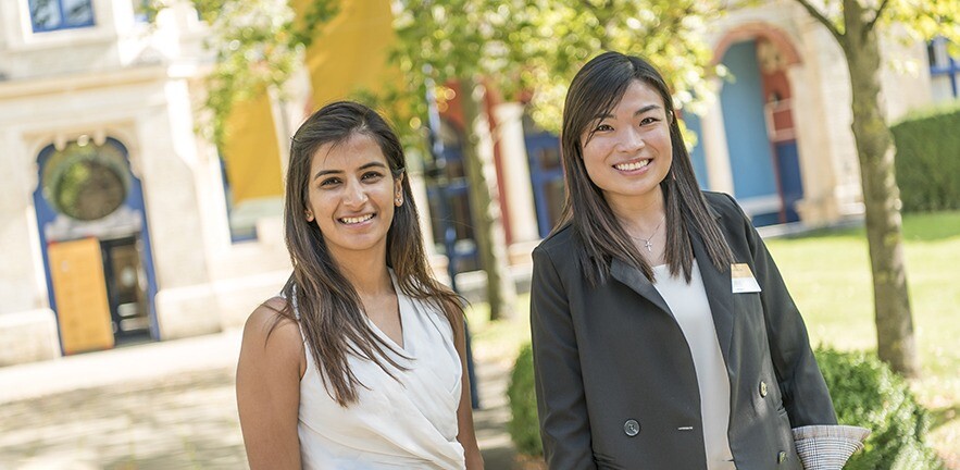
[[[95,221],[113,213],[127,196],[123,156],[112,146],[68,144],[43,171],[43,195],[61,213]]]

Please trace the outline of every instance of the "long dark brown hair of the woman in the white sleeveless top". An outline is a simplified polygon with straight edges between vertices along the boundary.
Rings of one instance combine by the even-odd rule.
[[[402,370],[386,354],[396,349],[366,323],[360,296],[337,268],[316,222],[308,222],[304,215],[313,154],[325,144],[345,143],[357,134],[376,141],[394,180],[400,177],[406,159],[400,140],[389,125],[363,104],[338,101],[313,113],[294,135],[284,205],[284,228],[294,273],[284,286],[287,304],[279,313],[296,321],[292,310],[296,301],[300,329],[323,383],[331,397],[342,407],[356,403],[357,387],[365,386],[350,370],[350,355],[375,362],[391,376],[386,363]],[[384,261],[394,269],[400,290],[426,299],[445,312],[459,341],[463,334],[462,304],[459,296],[434,279],[423,248],[410,178],[404,177],[401,186],[403,205],[395,208]]]

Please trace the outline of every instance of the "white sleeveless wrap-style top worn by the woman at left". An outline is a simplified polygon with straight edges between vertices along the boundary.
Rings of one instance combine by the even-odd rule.
[[[390,276],[394,273],[390,272]],[[437,307],[394,288],[400,306],[403,348],[367,320],[376,335],[408,358],[387,351],[401,371],[350,357],[350,370],[366,388],[347,408],[323,384],[307,346],[307,372],[300,380],[297,431],[304,469],[386,470],[463,469],[463,447],[457,441],[462,369],[450,322]],[[294,299],[296,311],[297,301]],[[299,312],[297,313],[299,317]],[[302,334],[302,332],[301,332]]]

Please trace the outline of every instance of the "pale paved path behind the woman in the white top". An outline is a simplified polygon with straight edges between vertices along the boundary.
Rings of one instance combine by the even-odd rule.
[[[0,470],[237,469],[239,332],[0,368]],[[477,366],[487,469],[509,470],[507,367]]]

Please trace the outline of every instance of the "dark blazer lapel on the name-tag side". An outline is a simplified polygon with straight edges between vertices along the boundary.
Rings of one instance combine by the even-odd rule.
[[[730,363],[730,346],[733,339],[734,309],[733,294],[731,294],[730,270],[720,272],[716,265],[707,255],[707,247],[700,234],[695,230],[690,230],[690,243],[694,246],[694,256],[697,258],[697,264],[700,267],[700,276],[703,279],[703,289],[707,292],[707,301],[710,304],[710,311],[713,313],[713,327],[716,329],[716,339],[720,342],[720,349],[723,358]]]

